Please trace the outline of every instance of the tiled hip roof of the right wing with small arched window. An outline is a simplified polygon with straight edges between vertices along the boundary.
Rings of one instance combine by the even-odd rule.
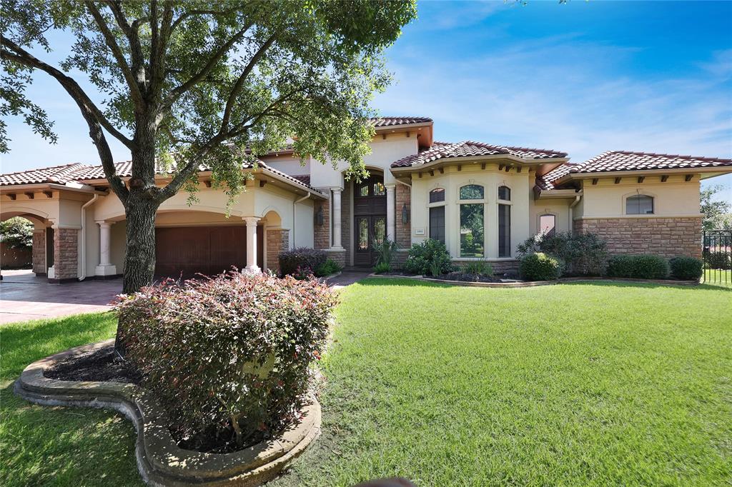
[[[651,152],[607,151],[572,167],[570,173],[605,173],[658,169],[698,169],[701,167],[732,166],[732,159],[717,157],[679,156]]]

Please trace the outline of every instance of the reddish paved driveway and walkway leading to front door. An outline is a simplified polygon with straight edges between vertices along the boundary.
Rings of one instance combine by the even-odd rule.
[[[368,271],[343,271],[328,279],[328,284],[342,289],[367,275]],[[31,271],[2,271],[2,276],[0,325],[107,311],[111,309],[108,303],[122,292],[122,279],[48,284],[45,277],[36,277]]]

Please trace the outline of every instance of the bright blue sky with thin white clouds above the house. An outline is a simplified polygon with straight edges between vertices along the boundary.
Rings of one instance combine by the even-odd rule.
[[[732,2],[419,1],[388,50],[384,115],[430,116],[436,140],[554,148],[572,162],[607,150],[732,156]],[[53,58],[64,54],[62,50]],[[4,173],[99,164],[78,109],[38,76],[52,146],[10,120]],[[129,159],[120,145],[116,159]],[[708,184],[725,186],[732,175]]]

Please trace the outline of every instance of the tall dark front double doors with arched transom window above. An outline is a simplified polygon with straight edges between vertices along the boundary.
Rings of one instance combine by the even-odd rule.
[[[386,238],[386,187],[383,173],[372,171],[354,183],[354,265],[370,267],[376,261],[373,244]]]

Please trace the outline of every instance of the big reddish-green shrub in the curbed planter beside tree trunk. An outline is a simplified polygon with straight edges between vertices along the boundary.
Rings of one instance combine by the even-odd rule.
[[[314,279],[231,271],[122,295],[116,312],[127,358],[171,431],[241,446],[296,419],[335,304]]]

